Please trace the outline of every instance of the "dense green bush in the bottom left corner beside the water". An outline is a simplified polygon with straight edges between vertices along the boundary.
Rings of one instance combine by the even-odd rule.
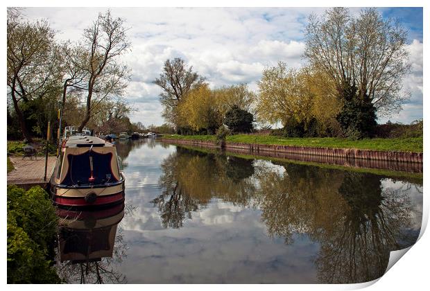
[[[8,283],[60,283],[47,259],[58,218],[48,194],[8,186]]]

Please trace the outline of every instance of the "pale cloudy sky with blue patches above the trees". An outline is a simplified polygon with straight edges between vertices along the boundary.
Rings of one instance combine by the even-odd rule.
[[[153,84],[167,59],[182,58],[204,76],[212,88],[248,83],[257,91],[264,68],[278,61],[289,67],[304,64],[304,30],[311,13],[326,8],[110,8],[126,20],[130,52],[123,62],[132,70],[126,91],[137,111],[131,121],[161,125],[160,87]],[[48,19],[59,40],[81,39],[83,30],[107,8],[26,8],[28,19]],[[350,8],[358,15],[361,8]],[[422,118],[422,8],[379,8],[408,30],[411,73],[404,89],[411,98],[401,112],[379,116],[378,123],[411,123]]]

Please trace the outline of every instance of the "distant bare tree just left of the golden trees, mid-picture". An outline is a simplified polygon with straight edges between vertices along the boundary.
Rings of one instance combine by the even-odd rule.
[[[204,80],[198,73],[193,72],[193,67],[187,69],[181,58],[164,62],[163,72],[155,79],[154,84],[163,89],[160,102],[164,106],[162,115],[166,121],[176,125],[176,106],[191,88],[198,87]]]

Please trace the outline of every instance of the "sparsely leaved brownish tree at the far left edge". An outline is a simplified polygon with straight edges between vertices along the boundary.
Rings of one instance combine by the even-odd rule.
[[[8,10],[7,86],[22,135],[32,141],[28,120],[40,119],[45,99],[58,94],[58,46],[47,21],[22,21],[20,13]]]

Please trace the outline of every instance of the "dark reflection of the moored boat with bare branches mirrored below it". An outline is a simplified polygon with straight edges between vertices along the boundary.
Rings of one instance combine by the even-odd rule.
[[[125,276],[115,270],[126,250],[117,234],[124,204],[98,211],[59,209],[58,216],[60,277],[67,283],[125,283]]]

